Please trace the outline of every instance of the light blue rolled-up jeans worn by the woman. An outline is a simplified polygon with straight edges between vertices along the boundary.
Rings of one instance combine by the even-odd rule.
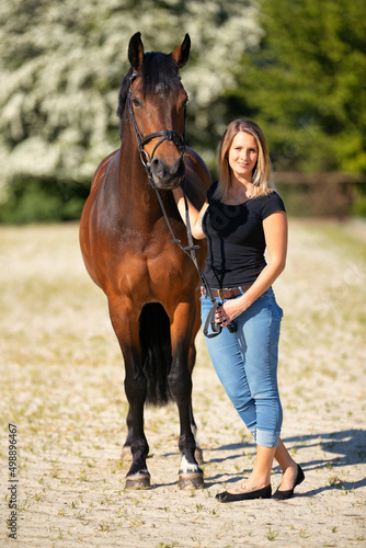
[[[207,295],[201,297],[201,305],[204,326],[213,305]],[[236,318],[236,333],[225,327],[219,335],[205,338],[227,395],[256,444],[264,447],[278,446],[283,420],[277,386],[282,317],[283,310],[270,288]]]

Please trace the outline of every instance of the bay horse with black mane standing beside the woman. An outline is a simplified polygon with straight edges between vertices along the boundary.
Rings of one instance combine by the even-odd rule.
[[[180,418],[179,487],[203,486],[191,399],[194,341],[201,326],[199,276],[167,226],[168,219],[176,240],[187,246],[171,190],[184,183],[199,208],[210,184],[203,160],[185,147],[187,94],[179,69],[187,62],[190,48],[188,34],[170,55],[145,54],[140,33],[130,38],[130,68],[117,110],[121,148],[96,168],[80,219],[84,264],[106,295],[124,357],[129,403],[124,449],[133,455],[126,476],[129,489],[150,486],[145,403],[172,399]],[[201,242],[199,267],[205,256]]]

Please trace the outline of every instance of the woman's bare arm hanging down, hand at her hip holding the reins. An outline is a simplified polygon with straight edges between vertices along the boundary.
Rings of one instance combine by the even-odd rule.
[[[228,300],[218,309],[216,321],[222,321],[222,319],[220,320],[222,316],[227,318],[227,321],[222,326],[227,326],[237,316],[247,310],[254,300],[271,287],[285,269],[287,254],[287,216],[285,212],[278,210],[266,217],[263,220],[263,230],[268,252],[268,262],[254,284],[242,297]]]

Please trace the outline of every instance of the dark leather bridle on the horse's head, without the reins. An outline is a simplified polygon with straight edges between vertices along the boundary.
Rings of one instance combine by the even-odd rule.
[[[183,134],[181,134],[180,132],[175,132],[174,129],[162,129],[161,132],[153,132],[152,134],[149,134],[149,135],[146,135],[145,137],[142,137],[142,134],[138,128],[138,125],[137,125],[137,122],[135,118],[135,113],[134,113],[134,109],[133,109],[133,98],[131,98],[131,91],[130,91],[130,87],[134,83],[134,81],[136,80],[136,78],[140,78],[140,77],[141,77],[141,75],[139,75],[138,72],[134,73],[130,77],[130,84],[129,84],[129,90],[127,93],[127,101],[126,101],[127,114],[133,123],[135,138],[136,138],[136,142],[137,142],[138,152],[140,155],[141,163],[147,172],[149,183],[151,184],[151,186],[153,189],[156,189],[153,178],[151,174],[151,161],[152,161],[153,156],[157,151],[157,148],[164,140],[170,140],[170,141],[174,142],[175,147],[180,151],[181,159],[183,159],[183,156],[185,152],[185,129],[184,129]],[[184,109],[184,128],[185,128],[185,109]],[[153,147],[151,156],[149,156],[144,147],[145,147],[145,145],[150,142],[151,139],[155,139],[156,137],[161,137],[161,139],[159,139],[157,145]]]

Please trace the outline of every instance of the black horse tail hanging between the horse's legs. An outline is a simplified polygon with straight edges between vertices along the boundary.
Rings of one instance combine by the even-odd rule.
[[[172,363],[170,321],[159,302],[145,305],[139,318],[142,369],[147,379],[147,403],[163,406],[172,400],[168,374]]]

